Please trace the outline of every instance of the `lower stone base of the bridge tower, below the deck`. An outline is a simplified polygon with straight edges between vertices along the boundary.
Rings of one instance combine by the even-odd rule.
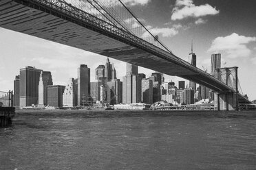
[[[214,110],[238,110],[237,93],[215,93]]]

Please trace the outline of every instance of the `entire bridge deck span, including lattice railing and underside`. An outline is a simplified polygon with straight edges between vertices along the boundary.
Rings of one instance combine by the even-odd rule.
[[[235,92],[173,53],[61,0],[1,0],[0,27],[176,75],[218,93]]]

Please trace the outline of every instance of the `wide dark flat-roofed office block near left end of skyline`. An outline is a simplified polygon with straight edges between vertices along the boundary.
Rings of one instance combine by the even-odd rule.
[[[39,77],[42,70],[32,66],[20,69],[19,106],[31,106],[38,104]]]

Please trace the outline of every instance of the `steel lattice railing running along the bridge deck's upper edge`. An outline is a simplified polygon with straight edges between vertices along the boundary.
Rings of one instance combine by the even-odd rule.
[[[104,29],[105,31],[111,34],[119,36],[119,38],[122,37],[125,40],[129,40],[130,42],[133,42],[139,47],[143,46],[145,47],[145,49],[151,49],[151,51],[156,51],[156,53],[158,53],[158,56],[165,56],[166,59],[171,59],[171,61],[175,62],[176,64],[186,65],[192,71],[200,70],[200,69],[197,69],[195,66],[191,66],[189,62],[186,62],[181,58],[178,58],[173,53],[170,53],[169,51],[165,51],[164,49],[161,49],[160,47],[153,45],[150,42],[147,42],[147,40],[144,40],[138,36],[135,36],[134,34],[131,34],[130,32],[127,32],[124,29],[121,29],[120,27],[117,27],[116,25],[103,21],[102,19],[98,19],[96,16],[93,16],[92,14],[89,14],[79,8],[76,8],[69,3],[66,3],[61,0],[33,0],[33,1],[36,1],[37,3],[40,3],[42,5],[45,5],[46,8],[51,7],[57,10],[58,12],[63,12],[63,14],[69,14],[69,16],[72,16],[78,20],[89,23],[92,26],[100,27],[101,29]]]

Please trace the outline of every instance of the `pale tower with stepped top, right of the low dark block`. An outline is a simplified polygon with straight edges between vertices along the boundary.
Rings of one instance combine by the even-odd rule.
[[[74,107],[77,105],[77,91],[76,91],[76,82],[74,78],[71,78],[63,93],[63,107]]]

